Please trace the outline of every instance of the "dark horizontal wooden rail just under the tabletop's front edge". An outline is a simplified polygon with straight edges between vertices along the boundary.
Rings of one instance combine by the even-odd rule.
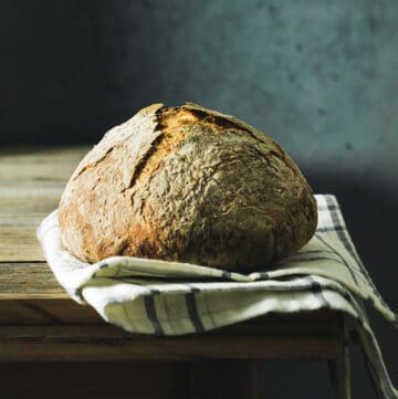
[[[231,330],[231,329],[230,329]],[[0,326],[1,361],[333,359],[336,335],[134,335],[102,325]]]

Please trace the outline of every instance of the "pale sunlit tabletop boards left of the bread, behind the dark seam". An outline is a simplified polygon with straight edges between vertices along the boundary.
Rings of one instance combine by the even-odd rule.
[[[44,260],[36,228],[57,207],[67,179],[86,150],[0,150],[0,262]]]

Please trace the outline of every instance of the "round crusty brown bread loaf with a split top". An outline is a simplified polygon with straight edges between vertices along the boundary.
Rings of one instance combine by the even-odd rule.
[[[154,104],[112,128],[63,192],[65,248],[250,272],[302,248],[317,223],[298,167],[271,138],[195,104]]]

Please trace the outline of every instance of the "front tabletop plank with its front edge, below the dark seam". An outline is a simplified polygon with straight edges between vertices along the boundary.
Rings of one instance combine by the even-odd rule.
[[[268,316],[269,323],[261,323],[261,326],[256,326],[258,322],[253,323],[261,334],[274,332],[281,335],[283,329],[290,332],[294,327],[295,335],[314,330],[324,335],[331,332],[337,334],[337,317],[333,312],[314,312]],[[94,309],[78,305],[69,297],[45,262],[0,263],[0,324],[98,322],[100,317]],[[251,323],[245,322],[247,325]],[[252,330],[254,327],[250,328]]]

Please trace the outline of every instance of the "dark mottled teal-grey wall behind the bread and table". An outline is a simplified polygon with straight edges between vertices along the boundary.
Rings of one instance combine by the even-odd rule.
[[[237,115],[282,144],[316,191],[338,196],[398,308],[397,1],[6,0],[0,9],[0,143],[95,143],[153,102]],[[374,324],[398,385],[397,333]],[[355,389],[370,398],[356,363]],[[297,382],[284,392],[286,365],[277,367],[263,367],[277,381],[270,397],[292,396],[305,378],[327,397],[320,367],[298,377],[289,368]]]

